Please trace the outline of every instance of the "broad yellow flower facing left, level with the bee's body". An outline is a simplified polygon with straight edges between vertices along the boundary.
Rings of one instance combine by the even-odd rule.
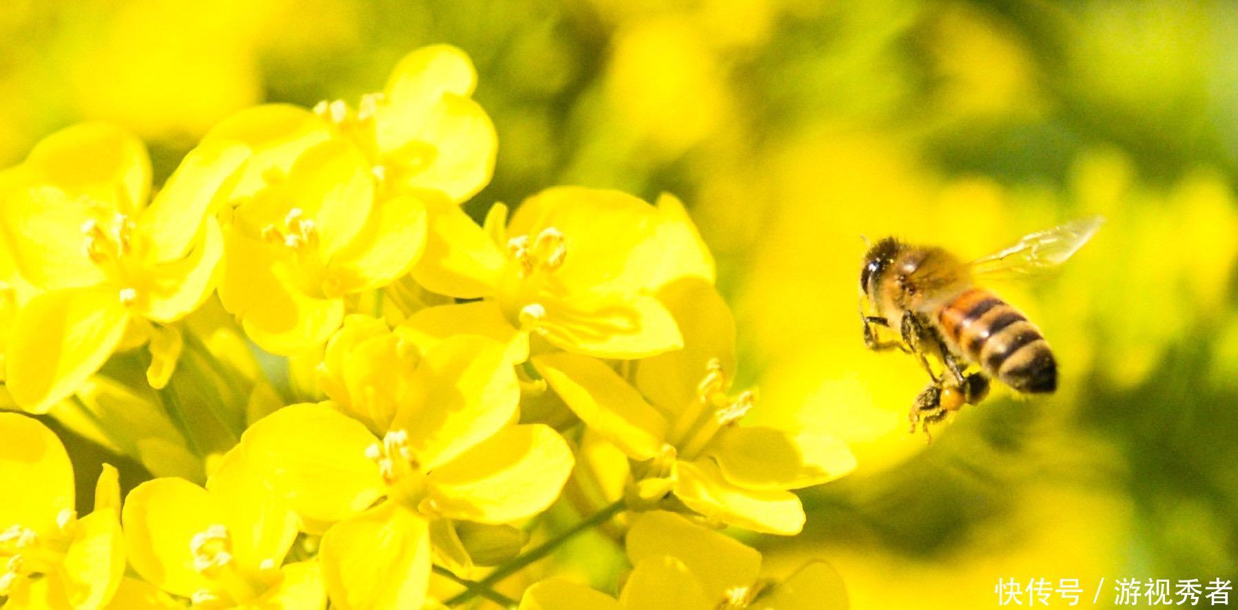
[[[413,277],[475,303],[422,309],[406,324],[433,340],[483,333],[524,360],[527,334],[555,348],[633,359],[678,349],[675,320],[649,292],[683,275],[713,278],[713,261],[682,205],[657,207],[615,191],[555,187],[504,224],[483,229],[446,202],[431,203],[430,243]],[[514,235],[508,239],[506,235]]]

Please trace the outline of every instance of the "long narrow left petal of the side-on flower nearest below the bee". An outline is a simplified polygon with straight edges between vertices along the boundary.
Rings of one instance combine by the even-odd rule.
[[[635,460],[660,452],[666,418],[602,361],[577,354],[534,356],[534,367],[586,426]]]

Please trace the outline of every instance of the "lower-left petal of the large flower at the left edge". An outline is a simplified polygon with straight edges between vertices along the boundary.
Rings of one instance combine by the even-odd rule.
[[[46,292],[25,304],[9,337],[7,387],[42,413],[103,366],[125,333],[129,311],[108,286]]]

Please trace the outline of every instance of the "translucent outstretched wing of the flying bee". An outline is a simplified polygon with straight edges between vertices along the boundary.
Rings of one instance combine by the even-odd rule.
[[[985,278],[1042,273],[1066,262],[1102,224],[1104,218],[1088,217],[1024,235],[1009,247],[976,259],[968,268],[973,277]]]

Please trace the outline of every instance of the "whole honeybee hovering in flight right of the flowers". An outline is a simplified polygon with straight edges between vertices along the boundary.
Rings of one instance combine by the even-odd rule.
[[[928,426],[963,405],[977,405],[989,380],[1020,393],[1057,389],[1057,360],[1040,329],[977,280],[1031,275],[1070,259],[1101,228],[1101,217],[1083,218],[1025,235],[1016,244],[972,262],[942,247],[916,246],[885,238],[869,247],[859,275],[859,314],[864,344],[915,355],[932,380],[916,397],[907,418],[928,440]],[[865,304],[874,314],[865,311]],[[898,338],[878,337],[880,328]],[[930,358],[945,370],[933,371]]]

